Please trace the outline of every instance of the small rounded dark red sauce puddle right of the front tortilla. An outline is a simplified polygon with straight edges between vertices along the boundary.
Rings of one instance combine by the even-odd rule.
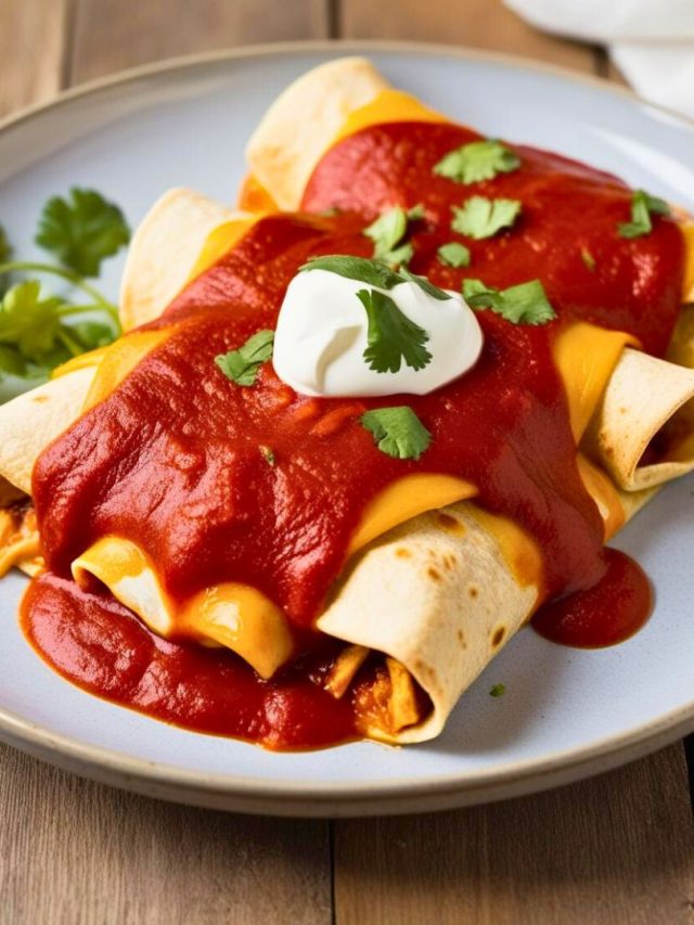
[[[616,645],[633,635],[653,609],[643,569],[616,549],[604,552],[605,571],[592,588],[544,604],[532,626],[545,639],[579,648]]]

